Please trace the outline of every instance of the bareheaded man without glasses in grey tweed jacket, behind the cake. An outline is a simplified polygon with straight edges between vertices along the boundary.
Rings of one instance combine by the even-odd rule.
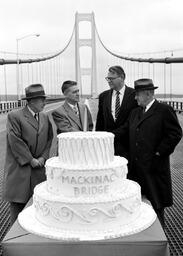
[[[93,121],[87,105],[79,102],[77,82],[67,80],[62,84],[64,103],[52,112],[57,134],[62,132],[92,131]]]

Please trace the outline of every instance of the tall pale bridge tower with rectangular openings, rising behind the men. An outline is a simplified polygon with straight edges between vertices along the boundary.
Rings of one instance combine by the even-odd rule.
[[[91,38],[79,38],[79,22],[89,21],[91,25]],[[91,47],[91,67],[85,68],[80,65],[80,47]],[[94,13],[75,14],[75,69],[76,81],[80,86],[82,94],[82,76],[89,76],[91,81],[91,96],[97,96],[97,74],[96,74],[96,42],[95,42],[95,21]]]

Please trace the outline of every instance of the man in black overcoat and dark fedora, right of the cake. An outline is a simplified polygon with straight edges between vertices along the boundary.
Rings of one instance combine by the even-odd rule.
[[[128,178],[138,182],[164,227],[164,208],[173,204],[169,156],[182,137],[173,108],[154,98],[151,79],[135,81],[134,109],[125,126],[114,130],[116,139],[128,135]]]

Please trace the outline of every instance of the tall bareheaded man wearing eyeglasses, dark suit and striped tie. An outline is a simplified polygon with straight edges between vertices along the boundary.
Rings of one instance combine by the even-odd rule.
[[[99,95],[96,131],[112,132],[122,126],[132,109],[136,108],[134,89],[125,85],[125,72],[121,66],[112,66],[106,80],[110,89]],[[115,155],[128,158],[128,141],[114,139]]]

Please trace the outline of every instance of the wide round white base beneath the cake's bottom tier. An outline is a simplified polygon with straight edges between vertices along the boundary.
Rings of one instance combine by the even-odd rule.
[[[23,210],[19,216],[18,221],[20,225],[27,231],[40,235],[43,237],[70,240],[70,241],[92,241],[103,240],[110,238],[123,237],[131,234],[138,233],[148,228],[156,219],[156,214],[152,207],[147,203],[142,202],[140,214],[138,218],[128,225],[119,226],[118,230],[105,230],[105,231],[89,231],[89,232],[72,232],[71,230],[51,229],[43,225],[35,218],[34,206],[31,205]]]

